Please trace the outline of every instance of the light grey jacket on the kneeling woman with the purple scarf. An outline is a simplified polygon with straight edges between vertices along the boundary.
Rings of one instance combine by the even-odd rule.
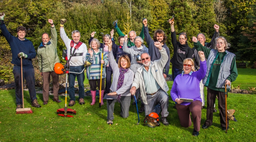
[[[121,88],[117,90],[117,82],[120,75],[118,64],[115,61],[113,50],[108,51],[108,61],[113,70],[113,81],[110,90],[116,92],[121,96],[131,96],[130,89],[132,87],[132,80],[134,78],[134,73],[130,69],[124,73],[124,82]]]

